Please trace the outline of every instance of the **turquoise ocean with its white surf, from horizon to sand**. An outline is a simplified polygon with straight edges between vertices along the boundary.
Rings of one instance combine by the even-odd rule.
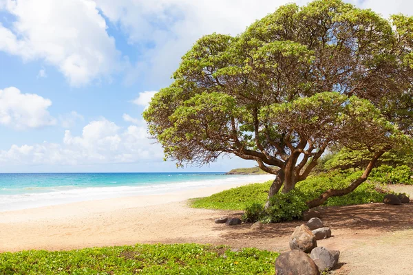
[[[224,173],[0,174],[0,212],[271,179]]]

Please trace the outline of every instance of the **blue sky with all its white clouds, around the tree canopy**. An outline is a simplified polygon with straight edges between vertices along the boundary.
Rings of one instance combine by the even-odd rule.
[[[284,0],[0,0],[0,173],[177,170],[142,111],[204,34],[236,35]],[[297,1],[304,5],[308,1]],[[388,17],[411,0],[349,0]]]

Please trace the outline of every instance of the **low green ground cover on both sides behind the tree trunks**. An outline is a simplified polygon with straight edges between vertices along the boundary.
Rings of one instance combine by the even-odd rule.
[[[310,176],[297,184],[306,201],[318,197],[321,192],[330,188],[345,188],[351,181],[359,177],[361,171],[355,173],[324,173]],[[245,210],[253,203],[264,203],[272,181],[263,184],[248,184],[222,192],[191,200],[193,208]],[[376,182],[367,181],[356,190],[343,197],[332,197],[324,203],[325,206],[346,206],[352,204],[383,201],[385,191]]]

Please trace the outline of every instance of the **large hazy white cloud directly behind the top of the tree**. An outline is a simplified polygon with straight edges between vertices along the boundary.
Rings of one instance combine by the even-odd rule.
[[[96,0],[103,14],[120,26],[128,41],[145,50],[142,61],[129,68],[126,83],[146,72],[149,84],[168,85],[180,57],[204,34],[239,34],[257,19],[274,12],[290,0]],[[299,5],[309,1],[297,0]],[[384,16],[413,13],[411,0],[348,0],[361,8],[372,8]],[[145,67],[145,69],[140,69]]]

